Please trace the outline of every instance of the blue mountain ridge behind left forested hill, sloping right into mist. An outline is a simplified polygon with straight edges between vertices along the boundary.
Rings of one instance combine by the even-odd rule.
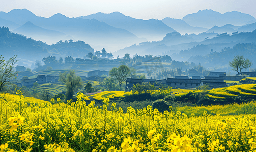
[[[19,25],[30,21],[41,28],[63,32],[67,35],[71,35],[76,40],[86,41],[94,45],[100,44],[103,47],[106,45],[124,47],[129,44],[146,41],[146,39],[139,39],[126,29],[116,28],[96,19],[69,18],[62,14],[55,14],[49,18],[44,18],[38,17],[26,9],[15,9],[9,13],[0,12],[0,18]],[[29,35],[30,33],[24,32],[23,34]],[[57,40],[51,43],[55,42],[57,42]],[[101,49],[103,47],[101,47]]]

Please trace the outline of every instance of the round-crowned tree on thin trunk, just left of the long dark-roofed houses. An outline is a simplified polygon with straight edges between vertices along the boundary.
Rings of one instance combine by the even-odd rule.
[[[117,67],[113,67],[110,71],[109,71],[109,75],[115,79],[118,80],[119,82],[119,89],[121,90],[121,85],[124,81],[126,81],[126,79],[128,78],[130,73],[130,69],[128,66],[126,65],[120,65],[118,68]]]

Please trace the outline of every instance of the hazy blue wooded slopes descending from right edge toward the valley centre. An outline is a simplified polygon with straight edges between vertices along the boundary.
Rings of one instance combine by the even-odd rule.
[[[256,30],[252,32],[240,32],[237,34],[217,34],[217,33],[200,33],[200,34],[185,34],[181,35],[178,32],[166,34],[162,41],[144,42],[139,45],[132,45],[124,49],[114,52],[114,55],[124,55],[126,52],[130,54],[137,53],[138,55],[170,55],[175,60],[186,61],[192,55],[206,55],[210,50],[221,51],[224,47],[233,47],[238,43],[256,42]],[[189,52],[180,52],[188,48],[193,48],[197,45],[205,45],[200,47],[200,51],[193,49]],[[157,51],[156,51],[157,50]],[[167,52],[167,53],[166,53]],[[180,53],[179,53],[180,52]],[[174,55],[174,53],[176,53]]]

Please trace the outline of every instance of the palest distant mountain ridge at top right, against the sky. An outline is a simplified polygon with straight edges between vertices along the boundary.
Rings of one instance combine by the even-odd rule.
[[[232,24],[235,26],[245,25],[247,22],[256,21],[249,14],[244,14],[237,11],[226,12],[221,14],[213,10],[199,10],[197,13],[188,14],[182,18],[191,26],[212,28],[213,26],[223,26]]]

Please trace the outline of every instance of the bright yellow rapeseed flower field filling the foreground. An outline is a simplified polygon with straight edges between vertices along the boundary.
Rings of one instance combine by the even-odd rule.
[[[117,109],[77,101],[34,102],[22,93],[0,99],[0,151],[255,151],[255,103],[183,107],[180,111]],[[11,96],[11,95],[10,95]],[[109,95],[108,95],[109,96]],[[54,99],[51,100],[53,102]],[[110,106],[111,110],[107,110]],[[223,111],[252,111],[225,115]],[[254,108],[254,110],[253,110]],[[208,111],[215,111],[210,115]],[[186,111],[187,115],[184,112]],[[194,113],[201,112],[201,115]]]

